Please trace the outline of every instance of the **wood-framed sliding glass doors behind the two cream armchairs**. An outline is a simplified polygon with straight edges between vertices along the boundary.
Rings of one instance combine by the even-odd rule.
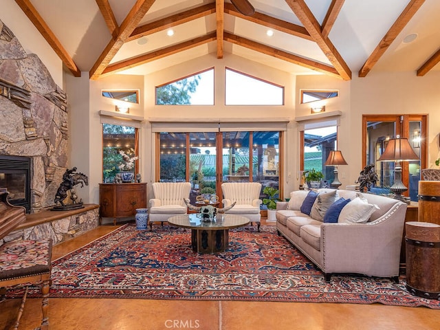
[[[192,202],[203,193],[221,197],[223,182],[254,181],[279,189],[280,135],[279,131],[157,133],[157,181],[190,181]]]

